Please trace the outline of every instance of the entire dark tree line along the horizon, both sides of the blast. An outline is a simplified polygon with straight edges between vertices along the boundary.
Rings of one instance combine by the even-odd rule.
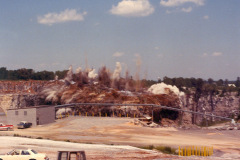
[[[68,70],[63,71],[38,71],[35,72],[33,69],[21,68],[17,70],[7,70],[6,67],[0,68],[0,80],[54,80],[56,76],[58,79],[63,79],[66,76]],[[158,81],[154,80],[141,80],[141,83],[145,87],[150,87],[153,84],[164,82],[168,85],[175,85],[181,91],[188,92],[189,88],[195,88],[196,91],[200,90],[201,92],[214,92],[217,93],[218,90],[222,90],[222,92],[232,92],[238,91],[240,88],[240,77],[237,77],[236,81],[228,81],[227,79],[219,79],[214,81],[209,78],[208,80],[203,80],[201,78],[169,78],[167,76],[163,77],[163,79],[158,79]],[[234,84],[236,87],[229,86],[229,84]],[[240,91],[239,91],[240,93]]]

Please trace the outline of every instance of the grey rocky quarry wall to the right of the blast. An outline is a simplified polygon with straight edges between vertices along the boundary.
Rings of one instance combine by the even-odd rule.
[[[224,96],[214,95],[202,95],[196,103],[194,101],[194,95],[185,95],[182,99],[183,109],[195,110],[197,112],[212,114],[222,117],[236,118],[240,111],[240,97],[236,96],[236,93],[227,93]],[[192,121],[192,114],[183,113],[183,121]],[[222,121],[220,118],[212,118],[209,116],[196,116],[196,123],[203,124],[208,121]]]

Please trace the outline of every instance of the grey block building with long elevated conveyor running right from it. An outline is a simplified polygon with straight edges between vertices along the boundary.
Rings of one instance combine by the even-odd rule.
[[[157,109],[157,108],[173,110],[176,112],[187,112],[190,114],[198,114],[201,116],[210,116],[210,117],[220,118],[220,119],[224,119],[224,120],[228,120],[228,121],[232,120],[231,118],[228,118],[228,117],[216,116],[216,115],[212,115],[212,114],[194,112],[194,111],[189,111],[189,110],[183,110],[180,108],[161,106],[161,105],[155,105],[155,104],[73,103],[73,104],[56,105],[56,106],[41,105],[41,106],[34,106],[34,107],[27,107],[27,108],[8,109],[7,110],[7,123],[12,124],[12,125],[17,125],[21,121],[27,121],[27,122],[32,123],[33,126],[44,125],[44,124],[55,122],[56,118],[59,118],[56,116],[56,112],[61,108],[65,108],[65,111],[67,108],[71,108],[72,109],[71,113],[73,115],[76,115],[76,114],[80,115],[81,114],[80,112],[75,113],[76,109],[77,108],[85,108],[86,106],[94,106],[94,107],[103,106],[104,108],[109,108],[109,109],[112,106],[149,107],[152,112],[152,113],[151,112],[149,113],[149,115],[152,116],[152,120],[153,120],[153,115],[154,115],[154,109]],[[82,114],[85,114],[85,113],[82,113]],[[94,116],[93,111],[92,111],[92,114]],[[114,112],[112,112],[112,114],[113,114],[112,116],[114,116]],[[87,115],[87,112],[86,112],[86,115]],[[107,115],[107,113],[104,113],[104,115],[110,116],[110,115]],[[125,110],[125,113],[123,113],[121,115],[128,117],[129,114]],[[135,117],[135,113],[134,113],[134,117]]]

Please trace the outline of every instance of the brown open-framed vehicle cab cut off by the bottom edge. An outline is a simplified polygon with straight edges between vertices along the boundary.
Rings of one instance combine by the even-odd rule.
[[[57,160],[86,160],[84,151],[58,151]]]

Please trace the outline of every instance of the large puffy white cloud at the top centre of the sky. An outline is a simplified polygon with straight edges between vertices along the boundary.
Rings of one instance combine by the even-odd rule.
[[[117,6],[112,6],[111,14],[124,17],[144,17],[154,12],[148,0],[122,0]]]

